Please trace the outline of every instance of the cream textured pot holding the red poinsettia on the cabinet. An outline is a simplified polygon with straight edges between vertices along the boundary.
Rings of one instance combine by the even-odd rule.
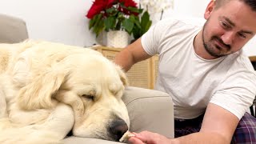
[[[124,30],[112,30],[106,33],[106,46],[124,48],[129,45],[130,35]]]

